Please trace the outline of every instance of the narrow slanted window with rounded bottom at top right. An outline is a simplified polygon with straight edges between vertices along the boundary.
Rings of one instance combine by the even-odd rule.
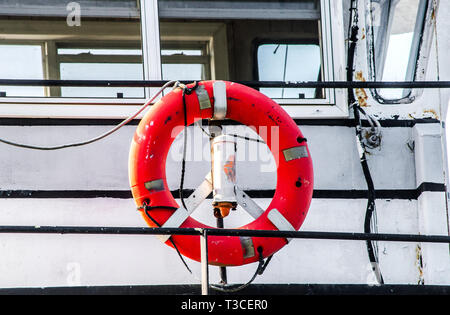
[[[427,17],[429,0],[370,0],[368,45],[370,75],[376,81],[415,81],[424,78],[423,57],[431,43]],[[420,90],[376,89],[380,103],[412,102]]]

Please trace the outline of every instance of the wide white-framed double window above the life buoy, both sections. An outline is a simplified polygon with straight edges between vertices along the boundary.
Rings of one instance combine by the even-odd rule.
[[[82,0],[71,26],[68,1],[0,1],[0,66],[18,65],[6,79],[345,80],[338,2]],[[0,87],[0,103],[11,105],[0,115],[119,118],[156,90]],[[343,89],[261,92],[293,117],[348,116]]]

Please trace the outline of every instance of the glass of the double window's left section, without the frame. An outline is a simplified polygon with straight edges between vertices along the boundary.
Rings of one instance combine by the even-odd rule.
[[[0,0],[0,28],[0,40],[26,62],[19,68],[24,79],[144,79],[138,1]],[[27,47],[38,45],[43,53],[29,57]],[[12,60],[9,53],[0,49],[0,60]],[[16,77],[2,71],[2,78]],[[7,96],[144,98],[145,93],[144,88],[26,87],[8,89]]]

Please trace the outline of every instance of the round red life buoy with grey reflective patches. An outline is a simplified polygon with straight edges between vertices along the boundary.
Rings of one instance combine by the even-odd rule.
[[[180,207],[168,188],[165,167],[170,146],[185,124],[184,105],[187,125],[200,119],[211,119],[214,115],[214,82],[197,83],[194,93],[184,96],[185,104],[182,89],[174,89],[151,107],[134,134],[129,158],[132,194],[138,207],[144,203],[156,207],[152,208],[151,215],[162,226],[174,215],[174,209]],[[227,108],[224,115],[254,127],[269,146],[277,165],[277,184],[271,203],[257,219],[240,229],[298,230],[308,212],[313,192],[313,167],[306,139],[293,119],[272,99],[241,84],[225,82],[225,87]],[[143,217],[149,226],[156,227],[144,212]],[[178,227],[213,228],[190,216],[182,221]],[[182,255],[200,261],[198,235],[171,237]],[[173,246],[168,240],[165,243]],[[284,238],[209,236],[208,260],[212,265],[239,266],[258,261],[259,249],[262,249],[263,257],[268,257],[286,243]]]

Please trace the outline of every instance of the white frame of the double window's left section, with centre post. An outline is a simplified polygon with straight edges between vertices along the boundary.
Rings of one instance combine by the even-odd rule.
[[[138,2],[141,14],[140,42],[142,44],[143,79],[160,80],[159,40],[157,42],[152,41],[154,37],[152,34],[155,34],[154,32],[159,34],[158,23],[152,23],[157,17],[157,15],[155,16],[157,13],[157,0],[138,0]],[[30,39],[14,40],[14,42],[41,43],[45,50],[47,43],[55,44],[59,41],[53,41],[51,39]],[[8,43],[11,42],[8,41]],[[56,45],[54,46],[57,49]],[[148,49],[148,47],[157,49]],[[46,54],[43,55],[43,58],[46,58]],[[159,63],[159,68],[158,65],[155,66],[155,61]],[[43,67],[45,73],[48,68],[46,62],[43,62]],[[45,89],[51,89],[51,87],[45,87]],[[121,119],[135,112],[142,106],[149,95],[158,90],[154,88],[143,89],[144,97],[142,98],[4,97],[0,98],[0,117]],[[48,92],[45,94],[48,95]]]

